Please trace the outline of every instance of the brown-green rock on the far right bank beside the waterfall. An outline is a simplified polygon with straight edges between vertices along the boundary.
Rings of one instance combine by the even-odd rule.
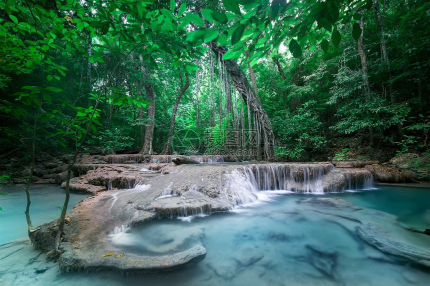
[[[389,162],[395,168],[411,173],[418,181],[430,182],[430,156],[405,153],[393,157]]]

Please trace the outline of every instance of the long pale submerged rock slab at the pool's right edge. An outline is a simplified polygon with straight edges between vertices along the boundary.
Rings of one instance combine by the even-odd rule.
[[[396,241],[378,224],[365,222],[356,231],[360,239],[398,260],[430,267],[430,253]]]

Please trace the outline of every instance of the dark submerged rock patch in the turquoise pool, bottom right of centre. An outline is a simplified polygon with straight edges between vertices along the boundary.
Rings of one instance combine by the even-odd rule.
[[[319,272],[333,279],[337,265],[337,251],[317,245],[306,245],[307,258]]]

